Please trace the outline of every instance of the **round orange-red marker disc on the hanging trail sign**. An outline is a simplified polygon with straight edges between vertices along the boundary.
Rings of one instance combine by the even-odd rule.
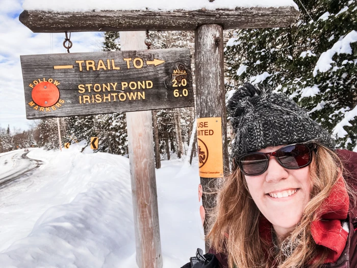
[[[39,106],[50,107],[60,99],[60,91],[57,86],[49,82],[38,83],[32,89],[32,100]]]

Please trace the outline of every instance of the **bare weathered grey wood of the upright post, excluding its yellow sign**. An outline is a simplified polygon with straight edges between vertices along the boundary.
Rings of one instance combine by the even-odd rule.
[[[222,118],[222,151],[224,174],[230,172],[227,149],[227,126],[223,74],[223,28],[219,25],[202,25],[195,32],[195,75],[197,118]],[[200,178],[203,188],[202,205],[206,210],[203,225],[208,233],[208,211],[215,207],[216,197],[207,194],[219,187],[222,178]],[[206,245],[206,251],[208,246]]]

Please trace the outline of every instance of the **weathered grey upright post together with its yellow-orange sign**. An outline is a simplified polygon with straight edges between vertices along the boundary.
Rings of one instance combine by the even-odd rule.
[[[211,210],[216,202],[216,196],[209,194],[215,190],[223,182],[224,174],[230,172],[230,163],[228,159],[227,148],[227,123],[225,110],[225,91],[224,91],[224,75],[223,75],[223,28],[220,25],[202,25],[195,32],[195,72],[196,72],[196,96],[197,96],[197,138],[198,150],[205,150],[205,161],[214,158],[215,165],[205,162],[200,164],[199,172],[200,182],[203,188],[202,205],[205,208],[205,235],[208,230],[208,211]],[[207,74],[215,74],[207,79]],[[208,109],[208,107],[210,107]],[[211,120],[210,122],[210,119]],[[216,119],[215,119],[216,118]],[[217,122],[216,122],[217,121]],[[205,124],[207,123],[207,124]],[[211,124],[219,124],[213,131]],[[216,131],[217,130],[217,131]],[[212,133],[212,132],[213,133]],[[205,143],[205,137],[217,135],[220,132],[218,139],[209,140]],[[203,142],[202,142],[203,141]],[[200,148],[204,145],[205,148]],[[209,151],[212,149],[221,148],[219,159],[211,156]],[[216,173],[221,170],[222,173]],[[210,173],[211,172],[211,173]],[[206,244],[206,252],[208,245]]]

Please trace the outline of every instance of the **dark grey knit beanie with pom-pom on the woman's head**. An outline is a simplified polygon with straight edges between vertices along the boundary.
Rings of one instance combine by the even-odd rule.
[[[304,109],[282,93],[244,84],[227,103],[236,134],[232,157],[266,147],[314,140],[333,149],[334,140]]]

